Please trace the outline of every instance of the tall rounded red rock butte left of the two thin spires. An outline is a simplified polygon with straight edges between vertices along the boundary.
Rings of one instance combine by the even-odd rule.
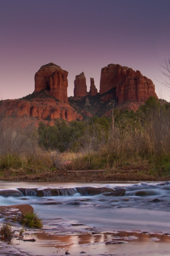
[[[68,72],[54,63],[40,67],[35,74],[35,92],[45,89],[50,96],[67,102]]]

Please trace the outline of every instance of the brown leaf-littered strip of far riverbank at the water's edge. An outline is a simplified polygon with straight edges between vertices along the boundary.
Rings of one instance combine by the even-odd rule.
[[[0,180],[7,181],[56,181],[56,182],[114,182],[114,181],[161,181],[170,176],[155,175],[149,165],[132,165],[104,170],[48,170],[24,172],[23,169],[9,169],[0,174]]]

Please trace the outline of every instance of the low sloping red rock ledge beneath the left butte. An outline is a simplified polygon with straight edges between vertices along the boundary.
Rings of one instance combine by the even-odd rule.
[[[34,98],[32,100],[4,100],[0,106],[4,117],[31,117],[40,121],[62,118],[66,121],[83,119],[68,103],[56,102],[53,98]]]

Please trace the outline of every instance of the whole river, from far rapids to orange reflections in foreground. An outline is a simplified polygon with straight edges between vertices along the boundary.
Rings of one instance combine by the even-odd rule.
[[[140,251],[140,255],[147,255],[148,252],[154,256],[169,255],[170,182],[15,183],[1,181],[0,205],[12,204],[32,205],[43,221],[43,232],[34,231],[29,235],[37,240],[35,248],[33,245],[30,247],[20,242],[10,249],[13,255],[61,256],[69,252],[72,255],[81,253],[86,253],[84,255],[138,255],[139,252],[135,251],[135,247],[133,252],[129,252],[128,248],[129,244],[138,243],[136,248],[140,251],[139,240],[141,239],[147,240],[148,246],[145,248],[146,251],[142,247],[144,253]],[[120,235],[120,231],[124,233]],[[125,231],[129,232],[129,238],[124,238],[124,243],[121,243],[122,236],[127,237]],[[157,235],[148,236],[151,233]],[[116,234],[118,234],[117,237]],[[120,244],[106,246],[116,239],[121,239]],[[128,240],[132,242],[129,243]],[[154,250],[152,250],[153,245],[150,247],[150,243],[154,243],[154,246],[156,244],[157,247],[153,247]],[[11,255],[8,254],[6,247],[2,246],[1,250],[4,250],[4,254],[1,255]]]

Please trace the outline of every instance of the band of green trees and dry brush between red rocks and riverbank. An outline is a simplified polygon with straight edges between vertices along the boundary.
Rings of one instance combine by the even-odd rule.
[[[41,122],[35,129],[6,126],[1,118],[0,124],[1,177],[135,165],[149,166],[147,175],[170,176],[170,104],[154,97],[136,112],[112,108],[111,117],[84,122]]]

